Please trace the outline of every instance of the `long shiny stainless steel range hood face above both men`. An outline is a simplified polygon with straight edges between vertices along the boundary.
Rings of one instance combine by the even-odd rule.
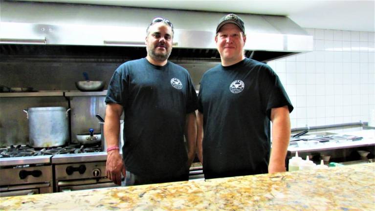
[[[125,46],[143,54],[156,16],[174,23],[172,56],[218,59],[217,21],[225,13],[1,0],[0,42],[37,45]],[[313,39],[283,16],[238,14],[245,22],[247,57],[267,62],[313,50]],[[145,54],[143,54],[145,55]]]

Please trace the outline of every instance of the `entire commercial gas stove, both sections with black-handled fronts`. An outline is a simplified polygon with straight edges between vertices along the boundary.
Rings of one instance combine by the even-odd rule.
[[[114,187],[100,146],[0,148],[0,196]]]

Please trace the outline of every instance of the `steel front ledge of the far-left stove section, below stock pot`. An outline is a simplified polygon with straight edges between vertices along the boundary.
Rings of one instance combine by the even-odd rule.
[[[52,155],[1,158],[0,159],[0,167],[28,165],[28,164],[50,164],[51,163],[51,157],[52,157]]]

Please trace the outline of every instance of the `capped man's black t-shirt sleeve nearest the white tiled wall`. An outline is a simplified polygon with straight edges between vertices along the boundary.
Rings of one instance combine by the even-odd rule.
[[[265,89],[261,95],[262,102],[265,104],[265,112],[268,118],[271,118],[271,109],[277,107],[288,106],[289,112],[292,112],[293,105],[291,104],[287,92],[276,73],[268,66],[264,65],[262,68],[264,74],[262,75],[262,84]]]

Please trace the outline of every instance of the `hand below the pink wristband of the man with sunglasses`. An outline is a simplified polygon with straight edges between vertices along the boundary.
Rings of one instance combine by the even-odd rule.
[[[121,173],[126,177],[124,161],[118,150],[111,150],[107,155],[106,175],[114,184],[121,186]]]

